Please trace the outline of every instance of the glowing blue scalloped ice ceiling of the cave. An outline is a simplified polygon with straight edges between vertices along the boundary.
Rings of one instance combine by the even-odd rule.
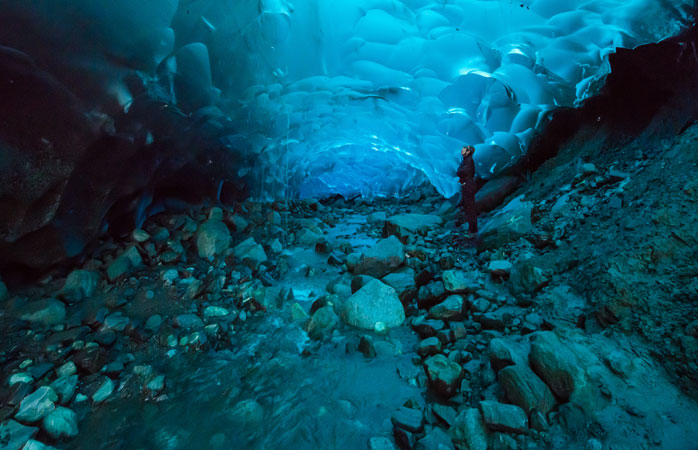
[[[99,113],[148,95],[223,129],[257,196],[450,197],[463,144],[506,171],[608,55],[678,33],[689,0],[8,0],[0,44]],[[213,118],[213,119],[211,119]]]

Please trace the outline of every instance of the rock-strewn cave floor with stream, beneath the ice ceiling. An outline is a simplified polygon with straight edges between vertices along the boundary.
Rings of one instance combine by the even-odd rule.
[[[247,202],[0,284],[0,448],[698,448],[696,140],[564,150],[473,239]]]

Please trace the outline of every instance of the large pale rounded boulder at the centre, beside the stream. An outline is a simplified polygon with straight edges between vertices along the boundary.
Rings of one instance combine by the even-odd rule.
[[[375,329],[378,322],[393,328],[405,320],[405,310],[393,288],[373,280],[347,299],[344,320],[369,330]]]

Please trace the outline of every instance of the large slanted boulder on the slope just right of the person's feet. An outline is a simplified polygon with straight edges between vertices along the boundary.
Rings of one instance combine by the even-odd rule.
[[[524,201],[523,196],[513,199],[482,226],[479,247],[501,247],[532,232],[532,212],[533,203]]]

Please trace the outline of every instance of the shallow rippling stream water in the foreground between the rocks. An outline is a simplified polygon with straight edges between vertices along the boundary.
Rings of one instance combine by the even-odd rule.
[[[420,395],[397,371],[415,370],[410,352],[368,360],[346,353],[354,336],[317,348],[297,324],[271,314],[245,327],[232,350],[161,361],[173,391],[169,399],[103,405],[88,415],[71,447],[365,448],[370,437],[390,434],[389,418],[398,406]],[[411,349],[416,342],[407,329],[392,333],[389,340],[398,347]],[[308,346],[315,349],[302,356],[300,349]]]

